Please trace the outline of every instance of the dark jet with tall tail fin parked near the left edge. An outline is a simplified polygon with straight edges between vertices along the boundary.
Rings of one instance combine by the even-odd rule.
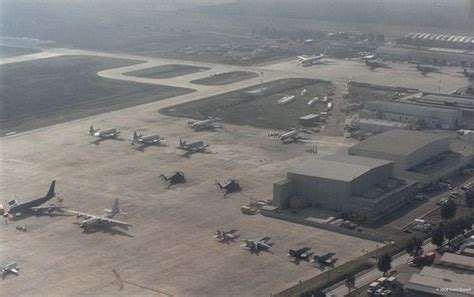
[[[64,206],[58,206],[58,205],[42,206],[44,203],[48,202],[49,200],[51,200],[51,198],[56,196],[56,193],[54,192],[55,186],[56,186],[56,181],[53,180],[51,182],[51,185],[49,186],[49,190],[48,190],[48,193],[46,193],[46,196],[36,198],[24,203],[18,203],[16,200],[12,200],[8,202],[8,205],[10,206],[8,213],[12,215],[13,217],[19,217],[25,213],[42,214],[45,212],[52,213],[57,210],[62,210]]]

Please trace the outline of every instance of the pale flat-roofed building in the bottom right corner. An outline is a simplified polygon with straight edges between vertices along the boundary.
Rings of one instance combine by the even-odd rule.
[[[456,273],[446,269],[425,267],[414,274],[405,286],[418,292],[439,295],[440,288],[455,291],[442,292],[443,296],[472,296],[472,274]]]

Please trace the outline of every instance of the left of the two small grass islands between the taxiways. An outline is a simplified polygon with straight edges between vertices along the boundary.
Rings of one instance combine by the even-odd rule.
[[[200,71],[209,70],[209,67],[197,67],[191,65],[170,64],[156,66],[146,69],[140,69],[125,73],[129,76],[147,77],[147,78],[171,78]]]

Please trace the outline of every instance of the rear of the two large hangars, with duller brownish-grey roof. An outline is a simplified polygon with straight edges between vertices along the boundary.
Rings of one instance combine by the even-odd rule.
[[[394,162],[395,174],[449,151],[447,136],[409,130],[391,130],[367,138],[349,148],[349,154]]]

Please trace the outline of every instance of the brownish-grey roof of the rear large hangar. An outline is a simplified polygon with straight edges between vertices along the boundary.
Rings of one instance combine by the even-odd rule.
[[[349,153],[365,150],[407,156],[435,141],[447,138],[449,137],[432,133],[396,129],[367,138],[349,148]]]

